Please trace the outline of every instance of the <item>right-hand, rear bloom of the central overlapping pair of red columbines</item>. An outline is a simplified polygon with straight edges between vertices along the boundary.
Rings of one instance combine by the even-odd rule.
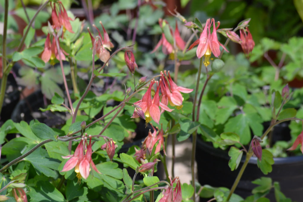
[[[165,74],[165,76],[164,76]],[[171,79],[171,76],[168,71],[168,76],[166,75],[166,71],[163,72],[161,71],[161,92],[162,92],[162,98],[161,98],[161,103],[164,105],[167,105],[168,102],[169,104],[173,107],[176,106],[177,109],[181,109],[183,107],[182,101],[183,101],[183,96],[180,92],[182,93],[190,93],[193,91],[193,89],[189,88],[183,88],[181,86],[177,86],[175,82]],[[162,111],[163,112],[163,111]]]

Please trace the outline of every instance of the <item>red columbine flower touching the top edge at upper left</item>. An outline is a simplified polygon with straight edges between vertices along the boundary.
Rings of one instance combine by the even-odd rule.
[[[59,11],[57,14],[55,3],[54,3],[54,7],[52,7],[52,3],[51,3],[53,27],[55,29],[59,30],[63,26],[63,32],[65,32],[65,30],[67,30],[71,33],[75,33],[72,30],[71,23],[69,22],[70,20],[72,20],[72,18],[68,17],[67,12],[66,12],[62,2],[59,1],[58,5],[59,5]]]

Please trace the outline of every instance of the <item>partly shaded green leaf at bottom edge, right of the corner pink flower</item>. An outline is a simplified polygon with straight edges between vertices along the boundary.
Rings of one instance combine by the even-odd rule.
[[[28,193],[32,202],[40,201],[66,201],[64,196],[51,183],[45,181],[38,181],[35,187],[32,187]]]

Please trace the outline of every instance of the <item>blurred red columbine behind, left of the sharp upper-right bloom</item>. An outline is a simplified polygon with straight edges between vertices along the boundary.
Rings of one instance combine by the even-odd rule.
[[[169,26],[168,22],[166,20],[164,20],[164,22],[167,24],[166,26]],[[159,19],[159,25],[162,28],[162,26],[163,26],[163,20],[161,18]],[[176,43],[177,49],[183,51],[184,48],[185,48],[185,41],[180,36],[180,32],[178,30],[177,21],[176,21],[175,32],[173,33],[172,28],[170,26],[169,26],[169,29],[170,29],[171,35],[173,36],[173,38],[175,38],[175,43]],[[173,47],[173,45],[171,45],[167,41],[167,39],[165,38],[164,33],[162,33],[162,38],[160,39],[160,41],[158,42],[158,44],[155,46],[154,50],[151,51],[151,53],[155,52],[161,45],[162,45],[162,52],[165,55],[169,55],[169,54],[171,54],[171,53],[173,53],[175,51],[175,48]]]

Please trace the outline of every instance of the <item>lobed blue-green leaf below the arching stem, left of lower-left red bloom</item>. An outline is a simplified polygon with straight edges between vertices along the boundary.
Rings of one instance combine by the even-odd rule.
[[[36,170],[38,175],[44,174],[47,177],[56,177],[59,162],[55,159],[49,158],[47,151],[39,147],[32,154],[24,158],[29,161]]]

